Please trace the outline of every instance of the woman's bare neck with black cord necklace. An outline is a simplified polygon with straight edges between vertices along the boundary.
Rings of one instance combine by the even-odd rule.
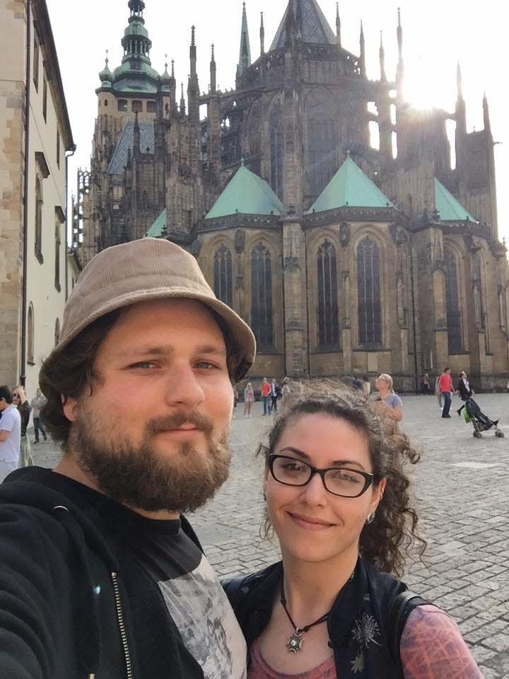
[[[303,562],[283,551],[283,587],[286,605],[296,625],[327,613],[351,578],[358,551],[322,563]]]

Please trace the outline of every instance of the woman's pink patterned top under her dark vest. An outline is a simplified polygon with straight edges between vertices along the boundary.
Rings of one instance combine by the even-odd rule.
[[[452,617],[432,605],[410,613],[399,646],[405,679],[483,679]],[[300,674],[273,670],[262,658],[259,640],[251,646],[247,679],[337,679],[334,657]]]

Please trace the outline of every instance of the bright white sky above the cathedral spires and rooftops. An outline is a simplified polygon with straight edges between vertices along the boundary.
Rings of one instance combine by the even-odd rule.
[[[336,2],[319,0],[333,30]],[[265,45],[276,33],[288,0],[247,0],[252,59],[259,56],[260,12],[264,13]],[[78,167],[90,166],[97,115],[95,89],[105,50],[112,71],[122,61],[120,40],[127,26],[127,0],[47,0],[59,54],[77,151],[69,164],[70,181]],[[467,4],[464,0],[356,0],[339,2],[343,46],[358,54],[363,21],[368,77],[378,79],[380,31],[385,45],[387,76],[397,63],[397,8],[404,30],[404,95],[419,108],[454,112],[456,67],[460,62],[467,103],[467,129],[482,129],[482,97],[488,97],[496,141],[498,231],[509,245],[509,124],[506,23],[500,0]],[[164,70],[165,54],[175,59],[177,83],[187,86],[191,26],[196,26],[201,91],[209,86],[211,44],[215,45],[218,88],[235,85],[240,48],[242,0],[146,0],[146,28],[153,42],[152,66]]]

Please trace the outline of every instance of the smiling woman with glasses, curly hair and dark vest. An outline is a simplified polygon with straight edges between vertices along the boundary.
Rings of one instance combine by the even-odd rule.
[[[481,679],[455,622],[398,579],[419,542],[404,434],[362,395],[304,389],[269,434],[264,495],[281,562],[224,586],[248,679]],[[402,463],[401,460],[404,460]]]

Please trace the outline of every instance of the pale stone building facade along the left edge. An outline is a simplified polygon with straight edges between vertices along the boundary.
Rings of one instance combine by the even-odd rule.
[[[62,323],[74,144],[45,1],[10,0],[0,19],[0,383],[31,394]]]

